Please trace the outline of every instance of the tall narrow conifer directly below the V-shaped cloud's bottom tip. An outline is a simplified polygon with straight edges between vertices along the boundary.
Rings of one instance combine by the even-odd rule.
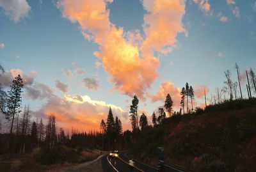
[[[132,105],[130,106],[130,115],[129,115],[131,124],[132,124],[132,130],[138,128],[138,104],[139,104],[139,100],[136,97],[136,95],[134,95],[132,99]]]

